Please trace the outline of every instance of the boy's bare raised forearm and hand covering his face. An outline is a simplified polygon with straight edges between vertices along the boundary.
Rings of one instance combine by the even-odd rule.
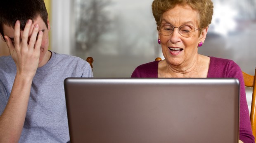
[[[31,25],[32,21],[28,20],[20,36],[20,22],[15,23],[14,44],[8,36],[5,36],[10,54],[17,67],[17,74],[5,110],[0,116],[1,143],[18,142],[23,129],[31,84],[38,67],[43,37],[43,32],[39,31],[38,24],[35,24],[28,42]],[[37,34],[38,40],[36,40]]]

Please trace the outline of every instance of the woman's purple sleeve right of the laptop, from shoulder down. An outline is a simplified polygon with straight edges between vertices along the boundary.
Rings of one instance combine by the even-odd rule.
[[[227,78],[237,78],[240,82],[239,139],[244,143],[254,143],[242,70],[235,62],[231,61],[228,65],[226,76]]]

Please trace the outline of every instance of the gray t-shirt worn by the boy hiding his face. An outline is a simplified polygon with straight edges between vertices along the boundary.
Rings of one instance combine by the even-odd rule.
[[[5,109],[16,75],[11,56],[0,57],[0,115]],[[52,52],[33,78],[20,143],[66,143],[69,128],[64,79],[93,77],[90,64],[81,58]]]

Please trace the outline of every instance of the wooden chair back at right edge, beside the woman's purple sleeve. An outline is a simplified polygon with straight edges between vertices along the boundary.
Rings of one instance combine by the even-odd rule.
[[[255,68],[255,73],[254,76],[249,75],[245,72],[243,72],[243,76],[244,76],[244,85],[246,87],[252,87],[252,97],[251,97],[251,129],[252,129],[252,134],[254,136],[256,136],[256,102],[255,102],[255,98],[256,98],[256,68]]]

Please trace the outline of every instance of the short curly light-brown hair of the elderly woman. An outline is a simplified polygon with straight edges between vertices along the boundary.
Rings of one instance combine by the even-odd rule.
[[[152,12],[156,20],[156,25],[160,25],[164,12],[174,8],[176,5],[189,5],[199,14],[197,23],[199,31],[211,24],[213,15],[213,2],[211,0],[154,0]]]

